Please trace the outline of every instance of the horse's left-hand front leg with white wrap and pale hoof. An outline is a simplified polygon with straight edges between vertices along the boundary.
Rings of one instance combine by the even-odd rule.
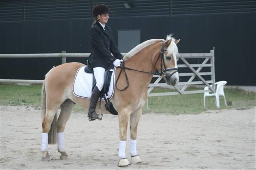
[[[129,116],[130,116],[130,112],[129,111],[127,112],[126,109],[123,109],[118,113],[120,142],[119,142],[119,152],[118,152],[119,162],[117,166],[119,167],[130,165],[125,154],[126,140],[127,140],[127,126],[129,122]]]

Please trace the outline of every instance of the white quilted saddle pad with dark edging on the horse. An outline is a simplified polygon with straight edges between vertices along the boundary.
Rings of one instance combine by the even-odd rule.
[[[81,98],[90,98],[91,97],[91,88],[92,88],[92,74],[86,73],[84,71],[85,66],[82,66],[78,69],[76,77],[73,83],[73,93],[77,97]],[[115,87],[115,67],[111,76],[111,81],[109,85],[109,91],[107,97],[111,99],[114,94]],[[102,98],[102,100],[104,100]]]

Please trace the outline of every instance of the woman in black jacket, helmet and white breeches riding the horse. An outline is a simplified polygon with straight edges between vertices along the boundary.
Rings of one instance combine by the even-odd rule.
[[[90,67],[93,68],[96,86],[91,93],[88,111],[89,121],[95,120],[99,116],[99,114],[95,112],[95,107],[103,88],[105,69],[109,68],[112,64],[118,67],[123,61],[123,56],[114,42],[111,27],[106,25],[110,12],[109,7],[105,4],[97,4],[92,9],[94,17],[90,31],[92,49],[88,62]],[[111,55],[111,53],[114,56]]]

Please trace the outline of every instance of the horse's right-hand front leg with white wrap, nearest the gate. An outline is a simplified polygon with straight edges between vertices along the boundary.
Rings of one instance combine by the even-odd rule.
[[[131,163],[141,163],[140,157],[137,155],[137,127],[142,115],[142,109],[130,115],[130,154],[132,156]]]

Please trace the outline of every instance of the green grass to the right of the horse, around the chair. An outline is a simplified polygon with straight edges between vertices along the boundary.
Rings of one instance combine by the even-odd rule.
[[[188,90],[200,90],[196,88],[188,88]],[[170,92],[175,90],[154,88],[152,93]],[[231,105],[225,106],[224,98],[220,97],[219,109],[230,109],[232,107],[251,107],[256,106],[256,93],[246,92],[239,89],[225,89],[227,103]],[[203,104],[203,93],[149,97],[148,110],[143,108],[144,112],[154,113],[200,113],[207,110],[218,110],[215,106],[215,97],[206,97],[206,107]]]

